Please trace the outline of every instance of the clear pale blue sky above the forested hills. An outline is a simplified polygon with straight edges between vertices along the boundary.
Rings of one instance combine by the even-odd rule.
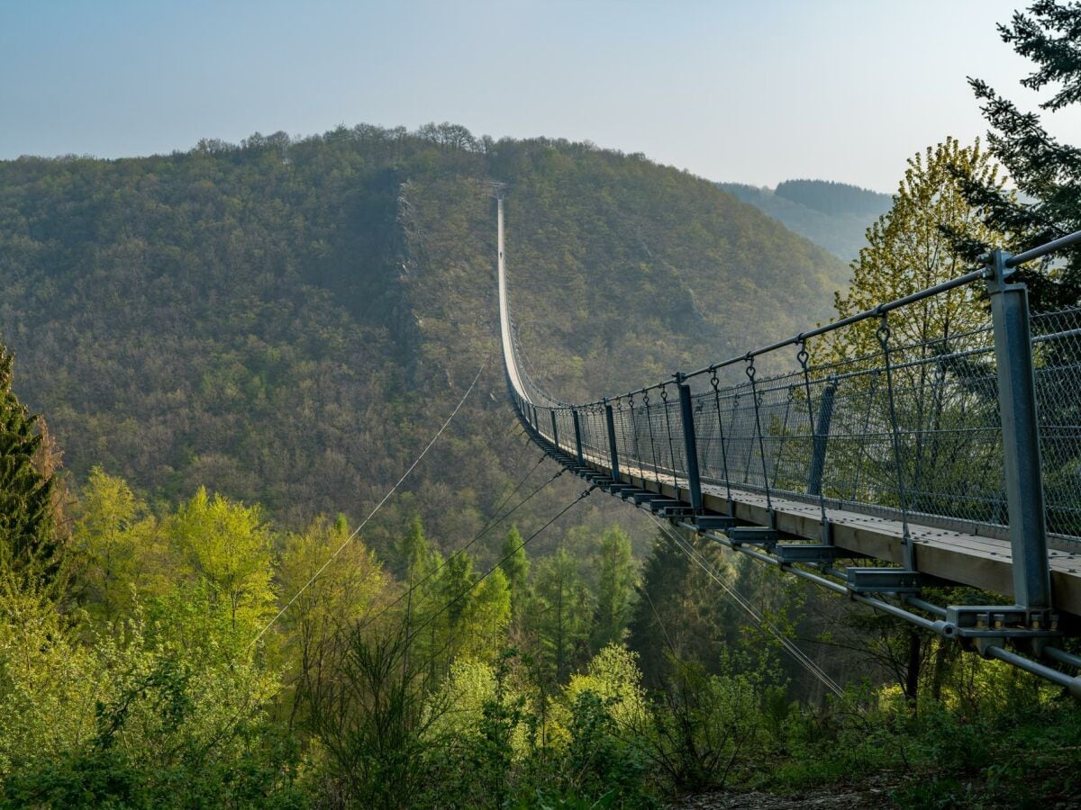
[[[452,121],[892,191],[986,130],[965,76],[1038,100],[995,29],[1023,1],[0,0],[0,159]]]

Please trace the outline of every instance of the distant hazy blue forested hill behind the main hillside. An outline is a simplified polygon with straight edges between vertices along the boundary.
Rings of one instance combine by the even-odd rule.
[[[845,261],[856,258],[867,228],[890,210],[890,194],[828,180],[785,180],[775,189],[718,184]]]

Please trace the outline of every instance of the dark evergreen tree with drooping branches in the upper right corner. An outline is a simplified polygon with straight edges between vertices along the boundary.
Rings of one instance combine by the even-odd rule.
[[[1022,79],[1023,86],[1040,91],[1055,85],[1056,92],[1040,105],[1054,113],[1081,102],[1081,5],[1037,0],[1029,13],[1015,12],[1009,25],[999,25],[1002,41],[1036,63],[1036,70]],[[1040,114],[1023,112],[980,79],[969,79],[980,110],[991,126],[991,152],[1033,202],[1020,202],[1000,186],[978,177],[961,178],[971,205],[993,231],[1015,234],[1010,246],[1016,252],[1043,244],[1081,229],[1081,148],[1060,143],[1044,127]],[[955,234],[958,235],[958,234]],[[979,239],[959,239],[970,256],[986,249]],[[1065,266],[1049,273],[1054,258]],[[1039,272],[1023,276],[1037,309],[1076,303],[1081,299],[1081,249],[1044,260]]]

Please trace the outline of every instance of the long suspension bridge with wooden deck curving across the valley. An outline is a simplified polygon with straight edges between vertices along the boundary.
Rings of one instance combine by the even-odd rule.
[[[499,325],[516,414],[592,487],[1081,699],[1081,308],[1022,265],[1081,232],[635,391],[562,402]],[[986,323],[906,328],[986,296]],[[983,311],[983,309],[980,309]],[[937,604],[966,586],[990,604]],[[933,589],[927,591],[927,589]]]

